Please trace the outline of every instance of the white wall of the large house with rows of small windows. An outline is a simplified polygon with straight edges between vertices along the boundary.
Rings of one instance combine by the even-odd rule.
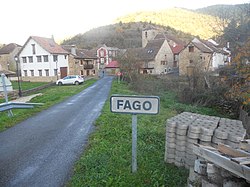
[[[35,44],[35,49],[36,49],[35,54],[33,54],[32,44]],[[48,62],[44,62],[44,59],[43,59],[44,55],[48,55]],[[29,56],[33,57],[32,63],[29,62],[29,59],[28,59]],[[37,56],[42,57],[42,62],[37,62]],[[23,62],[22,57],[26,57],[27,59],[26,63]],[[27,42],[27,44],[24,46],[22,52],[19,54],[19,60],[20,60],[20,67],[21,67],[21,75],[23,79],[30,79],[30,81],[33,81],[35,79],[54,80],[54,77],[57,77],[55,75],[55,69],[58,69],[58,71],[60,71],[61,67],[66,67],[68,69],[67,74],[69,73],[67,54],[58,54],[57,62],[56,62],[53,60],[53,54],[50,54],[49,52],[47,52],[33,39],[30,39]],[[25,70],[27,71],[27,76],[25,76],[25,73],[24,73]],[[31,75],[32,70],[34,71],[34,76]],[[42,70],[42,77],[44,78],[41,78],[38,70]],[[48,70],[49,72],[48,76],[46,75],[45,70]],[[37,77],[40,77],[40,78],[37,78]]]

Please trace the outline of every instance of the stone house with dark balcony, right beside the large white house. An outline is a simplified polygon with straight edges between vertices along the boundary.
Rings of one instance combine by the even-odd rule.
[[[62,46],[69,53],[69,74],[98,76],[95,50],[78,49],[75,45]]]

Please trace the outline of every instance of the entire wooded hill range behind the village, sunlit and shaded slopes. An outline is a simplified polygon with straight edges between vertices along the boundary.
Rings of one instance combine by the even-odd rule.
[[[215,5],[196,11],[173,8],[136,12],[117,18],[115,24],[95,28],[64,40],[62,44],[75,44],[79,48],[93,48],[99,44],[118,48],[140,47],[141,31],[150,25],[189,41],[193,37],[216,38],[223,36],[223,27],[230,20],[236,19],[236,22],[238,18],[249,20],[249,6],[250,4]],[[244,22],[241,21],[242,23]],[[248,28],[248,23],[249,21],[242,26],[246,28],[245,30]],[[228,41],[228,38],[225,39]]]

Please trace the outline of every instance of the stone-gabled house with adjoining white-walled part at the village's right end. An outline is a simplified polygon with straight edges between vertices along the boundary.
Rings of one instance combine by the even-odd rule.
[[[194,69],[200,72],[214,71],[224,66],[228,60],[228,53],[212,41],[194,38],[180,52],[179,75],[188,75]]]

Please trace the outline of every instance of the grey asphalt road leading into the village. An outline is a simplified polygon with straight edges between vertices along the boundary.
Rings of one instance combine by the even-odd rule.
[[[108,99],[112,77],[0,133],[0,186],[57,187],[75,161]]]

